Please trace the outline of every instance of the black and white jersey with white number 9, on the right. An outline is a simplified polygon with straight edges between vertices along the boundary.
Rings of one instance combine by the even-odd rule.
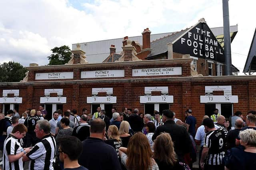
[[[226,137],[224,131],[216,129],[205,134],[204,147],[209,148],[205,163],[208,165],[222,164],[222,158],[225,156],[224,143]]]

